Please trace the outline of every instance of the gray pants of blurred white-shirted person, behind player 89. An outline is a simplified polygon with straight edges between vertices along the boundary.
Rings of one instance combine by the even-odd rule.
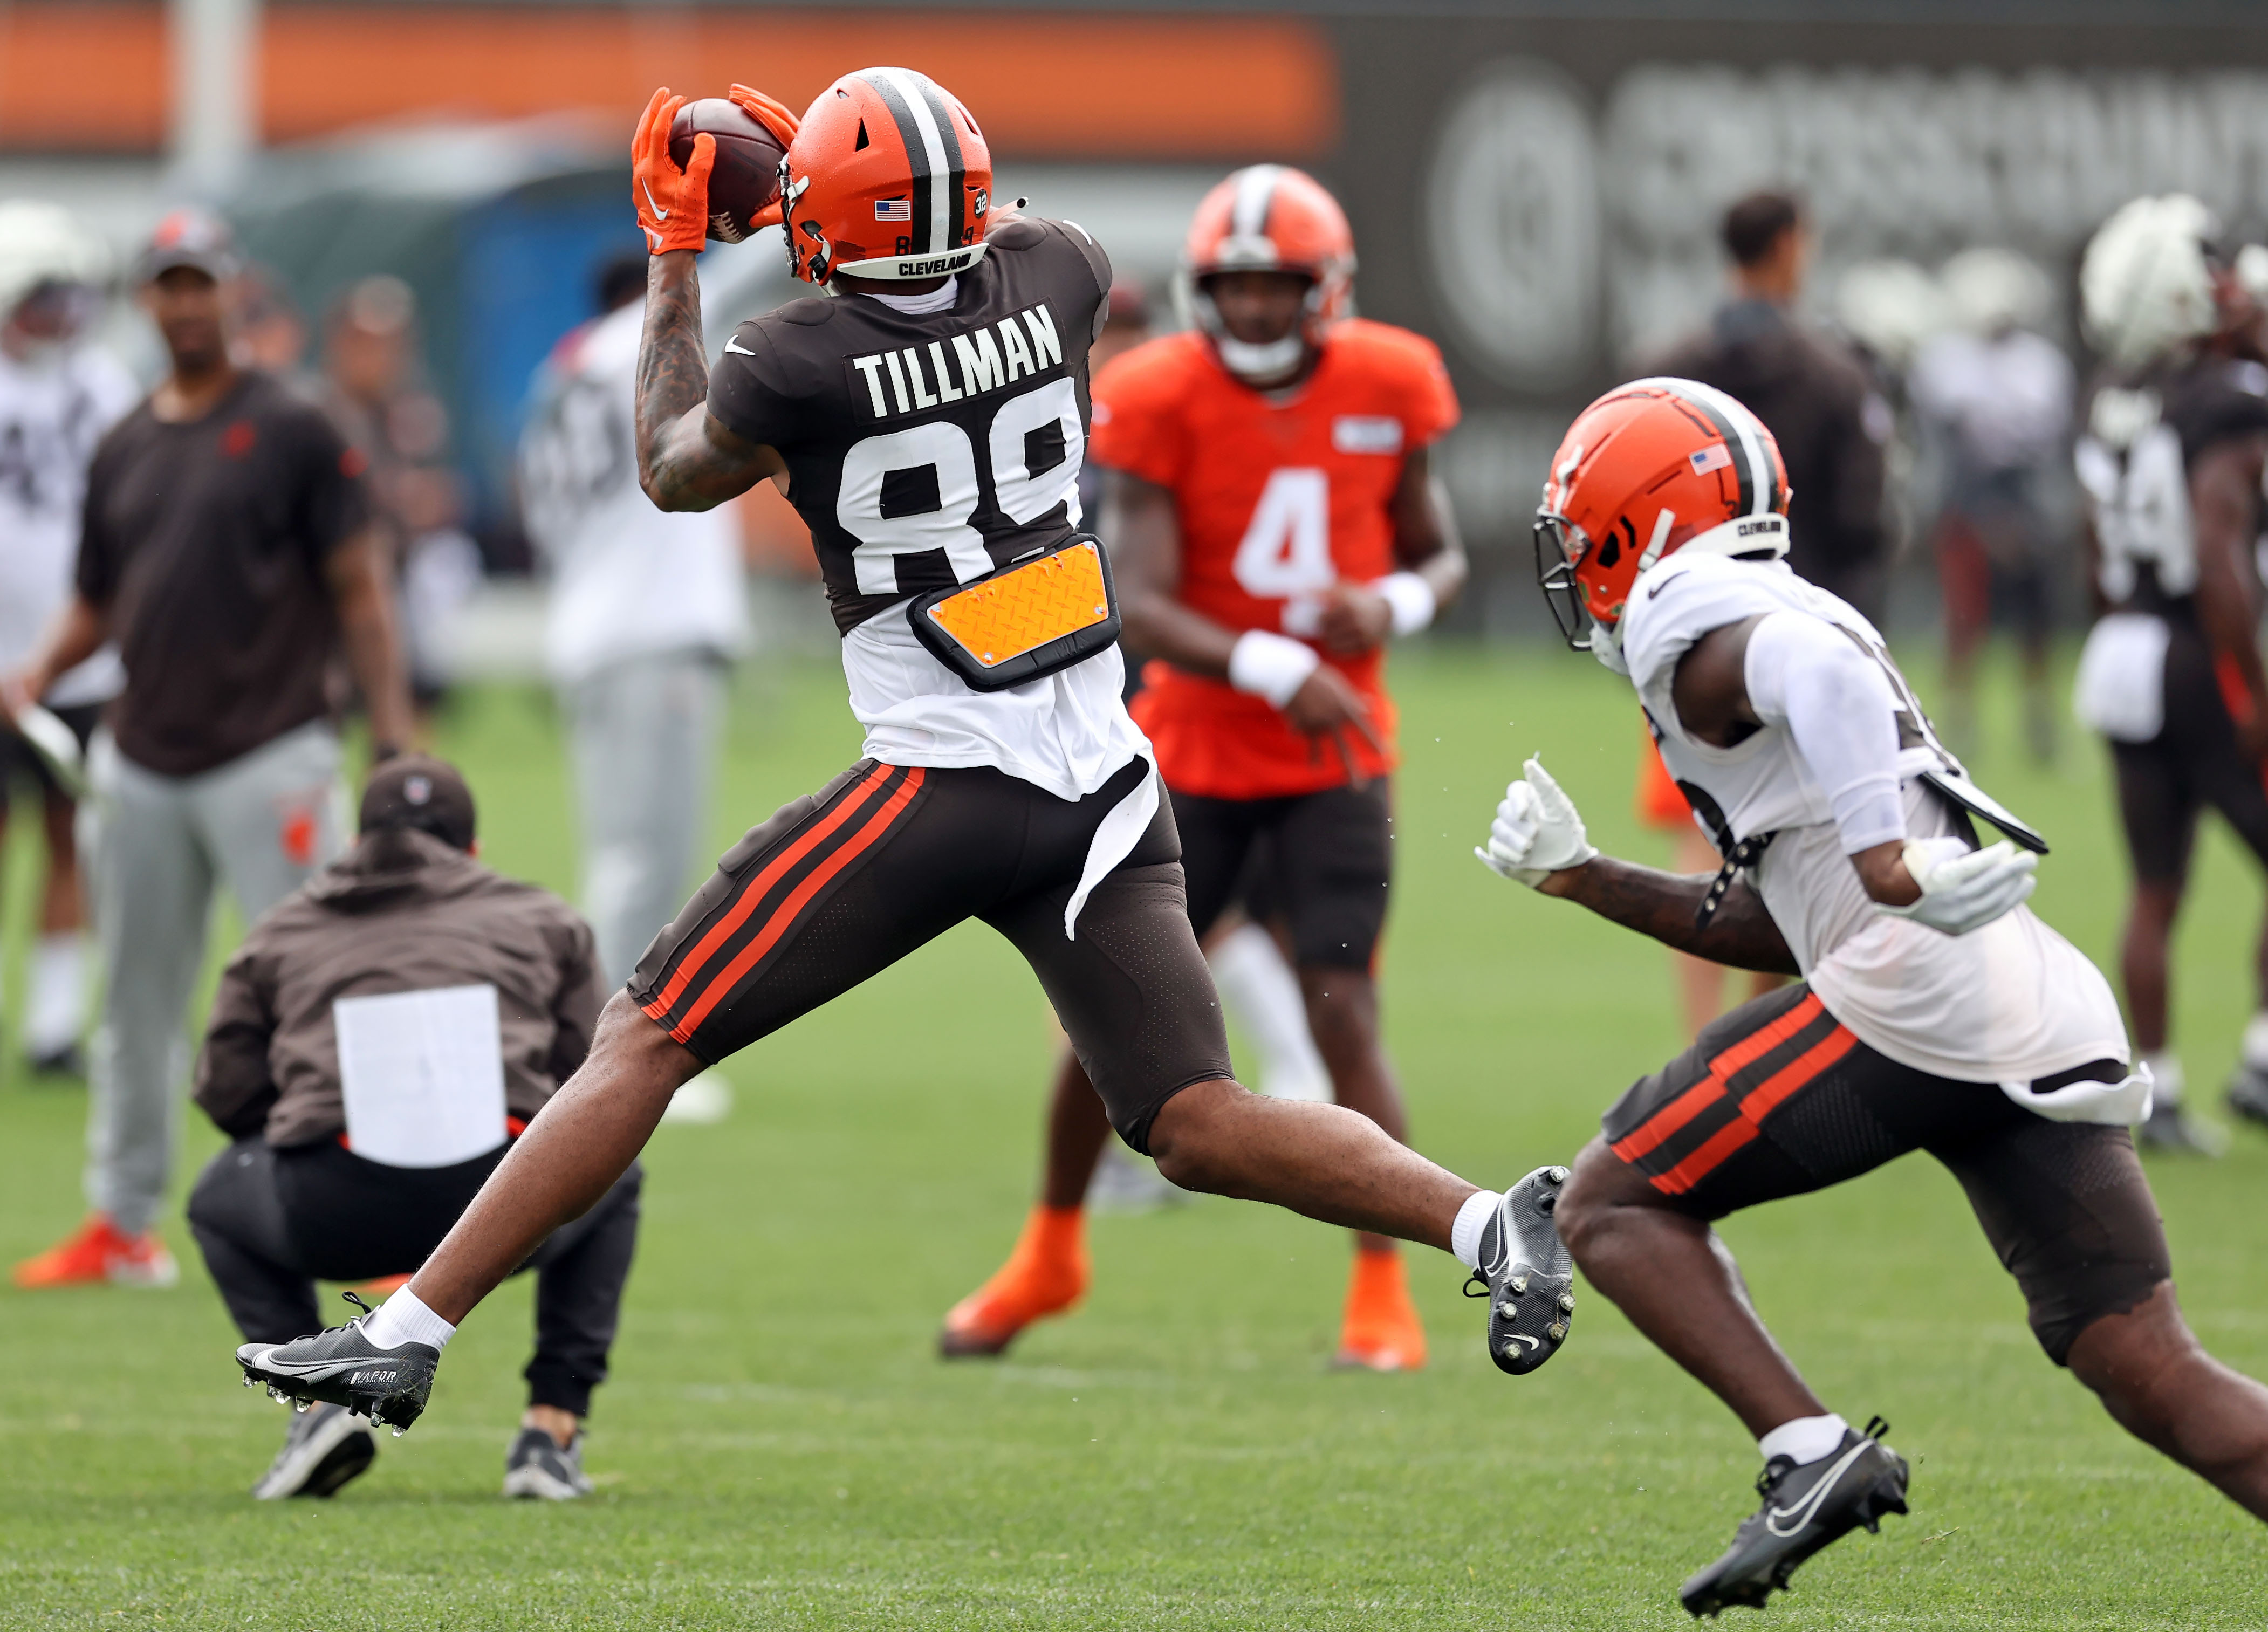
[[[710,766],[726,666],[705,648],[624,657],[562,687],[583,805],[583,916],[621,986],[710,861]]]

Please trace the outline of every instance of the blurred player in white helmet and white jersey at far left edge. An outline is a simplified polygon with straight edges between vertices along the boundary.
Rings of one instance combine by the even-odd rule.
[[[0,669],[25,662],[70,598],[86,462],[138,394],[134,376],[86,338],[109,277],[109,249],[70,211],[0,204]],[[41,700],[84,750],[122,678],[104,646]],[[0,800],[25,784],[39,789],[48,877],[18,1040],[34,1070],[77,1074],[86,907],[75,789],[20,734],[0,732]]]

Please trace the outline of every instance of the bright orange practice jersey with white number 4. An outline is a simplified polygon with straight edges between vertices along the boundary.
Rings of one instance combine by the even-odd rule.
[[[1232,630],[1311,639],[1322,592],[1395,571],[1390,501],[1404,458],[1456,424],[1440,351],[1347,320],[1290,392],[1238,383],[1198,333],[1127,351],[1095,381],[1095,462],[1175,496],[1182,603]],[[1352,743],[1363,775],[1393,771],[1386,655],[1325,655],[1368,698],[1386,753]],[[1166,784],[1209,798],[1318,793],[1347,780],[1268,705],[1225,680],[1150,664],[1134,714]]]

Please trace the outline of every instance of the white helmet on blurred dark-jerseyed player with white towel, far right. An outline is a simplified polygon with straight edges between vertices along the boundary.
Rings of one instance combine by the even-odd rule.
[[[2214,213],[2186,193],[2139,197],[2102,222],[2080,261],[2080,313],[2112,367],[2155,363],[2218,326],[2214,233]]]

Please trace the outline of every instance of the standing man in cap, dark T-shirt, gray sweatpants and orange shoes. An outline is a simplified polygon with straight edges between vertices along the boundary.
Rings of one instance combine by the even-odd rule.
[[[318,408],[229,358],[236,272],[227,229],[197,211],[168,215],[143,252],[141,299],[170,372],[95,449],[77,594],[0,682],[14,716],[104,639],[127,671],[88,753],[104,977],[93,1215],[18,1265],[18,1285],[172,1281],[152,1222],[213,886],[227,882],[249,923],[336,855],[333,653],[379,753],[408,737],[361,460]]]

